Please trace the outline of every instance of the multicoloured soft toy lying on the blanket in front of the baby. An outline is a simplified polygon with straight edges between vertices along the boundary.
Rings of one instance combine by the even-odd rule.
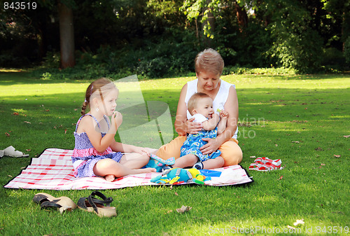
[[[211,177],[200,174],[200,171],[195,168],[183,169],[183,168],[172,168],[165,170],[162,175],[151,179],[153,183],[169,183],[169,184],[180,184],[180,183],[197,183],[204,184],[204,181],[210,180]]]

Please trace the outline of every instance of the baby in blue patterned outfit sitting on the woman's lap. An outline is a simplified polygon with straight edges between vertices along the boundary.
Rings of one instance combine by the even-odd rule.
[[[197,169],[223,167],[224,160],[220,156],[221,151],[216,150],[211,155],[203,155],[200,148],[207,143],[202,139],[213,139],[225,130],[228,112],[222,110],[220,115],[214,113],[213,99],[203,92],[197,92],[190,97],[188,111],[195,118],[195,122],[202,123],[202,130],[197,134],[188,134],[186,141],[181,146],[180,158],[175,160],[172,167],[193,166]]]

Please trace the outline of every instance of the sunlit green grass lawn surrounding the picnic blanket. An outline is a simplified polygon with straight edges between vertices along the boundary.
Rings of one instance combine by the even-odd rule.
[[[350,134],[350,76],[222,78],[237,86],[241,166],[248,169],[256,156],[281,158],[284,169],[248,171],[255,181],[248,186],[103,190],[113,197],[118,216],[99,218],[78,209],[61,215],[32,202],[40,192],[77,202],[91,190],[3,188],[45,148],[73,148],[72,133],[90,82],[1,72],[0,149],[12,145],[30,157],[0,159],[0,235],[230,235],[239,230],[276,235],[295,227],[297,219],[304,219],[299,231],[283,235],[349,235],[350,138],[344,136]],[[140,86],[146,101],[169,105],[174,123],[181,87],[192,79],[146,80]],[[152,146],[152,137],[141,137],[139,145]],[[192,209],[179,214],[182,205]]]

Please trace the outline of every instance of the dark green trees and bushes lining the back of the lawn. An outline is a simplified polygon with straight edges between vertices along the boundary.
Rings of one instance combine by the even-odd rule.
[[[229,66],[272,65],[311,73],[328,67],[323,52],[342,50],[350,32],[350,4],[342,0],[62,2],[74,9],[75,45],[80,51],[75,71],[80,72],[41,73],[50,72],[52,79],[130,73],[174,76],[193,71],[193,56],[207,47],[218,50]],[[43,61],[44,67],[59,71],[57,2],[37,4],[36,11],[0,11],[0,67]],[[248,16],[244,27],[237,20],[237,6]],[[348,51],[345,47],[346,58]]]

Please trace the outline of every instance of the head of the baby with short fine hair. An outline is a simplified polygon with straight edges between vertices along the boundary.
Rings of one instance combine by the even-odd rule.
[[[187,107],[192,116],[200,113],[206,118],[211,118],[214,114],[213,99],[204,92],[196,92],[192,95],[188,100]]]

